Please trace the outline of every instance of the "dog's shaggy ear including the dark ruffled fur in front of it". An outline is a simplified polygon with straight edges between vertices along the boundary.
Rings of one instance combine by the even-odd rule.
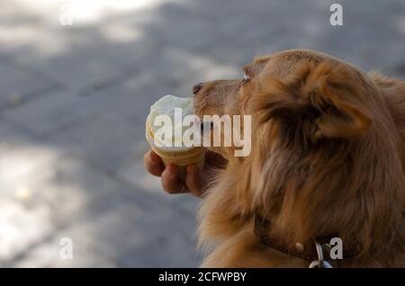
[[[290,78],[272,78],[261,87],[254,107],[259,122],[312,120],[308,135],[315,141],[360,138],[373,122],[365,106],[365,81],[344,64],[307,64]]]

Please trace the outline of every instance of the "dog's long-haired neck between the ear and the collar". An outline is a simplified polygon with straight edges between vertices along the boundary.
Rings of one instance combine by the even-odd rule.
[[[257,170],[252,165],[254,205],[272,220],[278,237],[300,242],[337,234],[369,251],[403,233],[396,201],[403,190],[401,161],[361,148],[332,142],[328,150],[302,157],[275,150]]]

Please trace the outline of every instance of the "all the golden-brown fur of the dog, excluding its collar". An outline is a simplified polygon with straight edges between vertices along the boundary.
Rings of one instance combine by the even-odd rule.
[[[228,160],[206,192],[207,267],[307,267],[265,246],[253,219],[292,242],[338,234],[356,246],[338,267],[405,266],[405,83],[311,50],[256,58],[250,79],[205,83],[203,114],[251,114],[252,152]],[[345,255],[345,254],[344,254]]]

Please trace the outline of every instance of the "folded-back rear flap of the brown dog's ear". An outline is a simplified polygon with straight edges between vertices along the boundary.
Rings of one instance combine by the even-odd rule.
[[[315,86],[310,102],[320,110],[315,139],[360,138],[369,130],[373,120],[365,106],[365,82],[350,67],[322,63],[306,85]]]

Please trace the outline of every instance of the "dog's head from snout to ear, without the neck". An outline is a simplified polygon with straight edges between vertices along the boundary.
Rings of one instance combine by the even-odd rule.
[[[300,147],[322,138],[360,138],[373,123],[370,82],[338,59],[289,50],[256,58],[243,72],[241,79],[195,85],[196,114],[251,114],[259,125],[273,120],[280,139],[293,137],[290,142]],[[230,154],[226,148],[214,150]]]

